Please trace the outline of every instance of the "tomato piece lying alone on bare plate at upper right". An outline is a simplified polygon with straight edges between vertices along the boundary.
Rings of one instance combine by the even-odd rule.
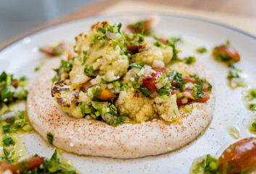
[[[235,62],[240,61],[239,53],[236,51],[236,49],[228,45],[216,46],[212,50],[212,55],[215,58],[221,57],[222,61],[228,61],[229,59],[233,59]]]

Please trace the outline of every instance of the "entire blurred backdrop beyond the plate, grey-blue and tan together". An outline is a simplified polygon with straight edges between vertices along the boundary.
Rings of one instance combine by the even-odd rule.
[[[195,15],[256,31],[256,0],[0,0],[0,48],[46,24],[123,11]]]

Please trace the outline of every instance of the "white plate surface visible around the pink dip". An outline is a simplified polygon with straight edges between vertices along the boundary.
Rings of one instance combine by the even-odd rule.
[[[57,41],[72,41],[79,33],[88,30],[91,24],[102,20],[112,22],[130,22],[144,19],[149,14],[122,14],[111,16],[88,17],[66,22],[52,28],[41,30],[23,38],[0,51],[0,72],[15,73],[15,75],[33,76],[34,68],[44,57],[38,52],[38,46],[44,46]],[[169,154],[139,159],[111,159],[104,157],[78,157],[75,154],[65,154],[73,159],[73,163],[81,173],[189,173],[192,161],[202,155],[219,156],[229,144],[236,140],[231,138],[228,128],[231,125],[239,128],[241,138],[253,136],[247,130],[252,121],[252,114],[246,109],[242,99],[242,91],[246,88],[231,90],[227,86],[227,67],[220,65],[207,54],[196,54],[197,46],[214,46],[231,42],[241,55],[237,66],[248,75],[249,83],[255,85],[256,74],[256,37],[229,26],[202,20],[194,17],[184,17],[173,14],[159,14],[156,30],[165,36],[181,36],[186,41],[186,51],[195,55],[207,65],[215,80],[216,104],[212,122],[207,130],[197,140]],[[185,47],[186,47],[185,46]],[[31,154],[38,153],[49,157],[52,149],[46,146],[39,136],[29,136],[25,144]]]

